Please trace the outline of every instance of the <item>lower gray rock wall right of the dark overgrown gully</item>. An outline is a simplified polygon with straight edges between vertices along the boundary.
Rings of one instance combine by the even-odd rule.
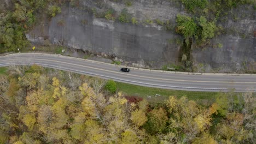
[[[199,71],[244,73],[256,70],[255,38],[223,35],[214,38],[212,43],[216,46],[193,50],[194,65]],[[223,47],[218,47],[218,43]]]

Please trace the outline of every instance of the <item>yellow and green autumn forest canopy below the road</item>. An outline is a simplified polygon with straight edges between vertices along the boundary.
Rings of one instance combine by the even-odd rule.
[[[254,143],[255,94],[151,104],[107,80],[31,67],[0,74],[0,143]],[[114,85],[111,85],[114,86]]]

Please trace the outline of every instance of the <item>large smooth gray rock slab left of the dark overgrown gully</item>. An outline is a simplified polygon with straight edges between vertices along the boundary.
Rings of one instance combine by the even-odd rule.
[[[34,43],[49,39],[53,44],[104,52],[126,61],[159,62],[159,68],[162,63],[177,61],[178,46],[168,43],[176,37],[155,27],[95,19],[86,11],[72,8],[62,9],[49,23],[42,23],[27,34]]]

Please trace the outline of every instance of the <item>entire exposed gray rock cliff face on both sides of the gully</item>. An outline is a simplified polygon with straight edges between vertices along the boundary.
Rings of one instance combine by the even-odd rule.
[[[46,40],[50,40],[53,44],[73,49],[115,55],[125,61],[139,63],[141,67],[159,69],[164,64],[178,62],[180,48],[170,41],[181,36],[174,31],[167,31],[155,24],[132,25],[108,21],[96,18],[88,12],[88,8],[95,8],[97,11],[112,8],[120,13],[125,7],[125,4],[108,0],[79,1],[79,7],[67,4],[62,7],[62,13],[50,21],[42,18],[42,22],[26,36],[33,43],[44,44]],[[170,20],[173,27],[176,25],[176,15],[185,14],[181,4],[167,0],[137,0],[126,8],[138,21]],[[234,10],[238,18],[219,22],[224,29],[228,29],[226,34],[212,39],[210,46],[193,49],[191,52],[191,61],[197,71],[256,71],[254,12],[253,9],[246,11],[240,8]]]

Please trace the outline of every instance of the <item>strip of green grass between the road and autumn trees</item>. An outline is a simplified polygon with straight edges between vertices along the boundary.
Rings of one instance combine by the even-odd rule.
[[[177,98],[187,96],[189,100],[195,100],[201,103],[211,103],[211,101],[215,101],[218,97],[218,92],[178,91],[171,89],[136,86],[122,82],[117,82],[117,89],[118,91],[123,92],[125,95],[138,96],[147,99],[150,103],[158,103],[167,100],[170,96],[175,96]]]

